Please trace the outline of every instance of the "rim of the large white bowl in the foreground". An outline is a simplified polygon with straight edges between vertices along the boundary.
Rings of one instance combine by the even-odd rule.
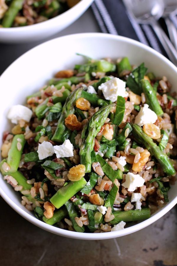
[[[171,61],[169,61],[165,56],[161,55],[159,52],[155,51],[154,49],[150,48],[149,46],[147,46],[143,43],[140,43],[139,41],[136,41],[136,40],[133,40],[133,39],[130,39],[127,37],[119,36],[119,35],[108,34],[108,33],[77,33],[77,34],[70,34],[70,35],[65,35],[62,37],[54,38],[54,39],[46,41],[40,45],[37,45],[34,48],[30,49],[29,51],[25,52],[19,58],[17,58],[12,64],[10,64],[10,66],[1,74],[0,80],[1,80],[1,77],[3,77],[4,74],[9,70],[9,68],[11,68],[14,64],[16,64],[16,61],[19,60],[25,54],[31,53],[31,51],[40,48],[40,46],[42,46],[42,45],[45,46],[46,44],[48,44],[50,42],[60,41],[60,39],[66,39],[67,40],[70,38],[72,38],[72,39],[73,38],[75,38],[75,39],[79,39],[79,38],[99,38],[99,39],[103,38],[103,39],[105,39],[106,38],[106,39],[111,39],[111,40],[124,41],[124,42],[130,43],[132,45],[138,46],[140,48],[143,48],[145,51],[149,51],[154,56],[159,57],[166,64],[168,64],[171,68],[173,68],[174,71],[177,73],[177,67],[173,63],[171,63]],[[61,229],[61,228],[58,228],[55,226],[48,225],[47,223],[44,223],[43,221],[38,220],[36,217],[30,215],[25,210],[20,208],[16,203],[14,203],[11,200],[11,198],[8,195],[6,195],[6,193],[1,189],[1,187],[0,187],[0,195],[9,204],[9,206],[12,207],[12,209],[14,209],[19,215],[21,215],[23,218],[25,218],[29,222],[33,223],[34,225],[36,225],[36,226],[38,226],[38,227],[40,227],[46,231],[49,231],[51,233],[60,235],[60,236],[65,236],[65,237],[69,237],[69,238],[73,238],[73,239],[83,239],[83,240],[112,239],[115,237],[125,236],[125,235],[128,235],[130,233],[134,233],[136,231],[139,231],[142,228],[145,228],[146,226],[149,226],[150,224],[152,224],[153,222],[155,222],[156,220],[161,218],[177,203],[177,196],[176,196],[171,202],[167,203],[167,205],[165,205],[161,210],[159,210],[157,213],[155,213],[153,216],[151,216],[147,220],[144,220],[144,221],[142,221],[136,225],[130,226],[128,228],[124,228],[123,230],[94,234],[94,233],[73,232],[73,231],[68,231],[65,229]]]

